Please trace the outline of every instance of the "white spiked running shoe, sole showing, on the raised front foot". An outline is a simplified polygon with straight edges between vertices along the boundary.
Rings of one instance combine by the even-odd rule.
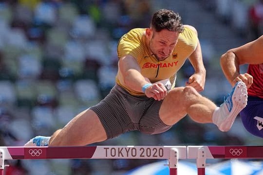
[[[247,104],[247,89],[244,82],[236,83],[231,93],[227,95],[224,103],[213,114],[213,122],[221,131],[230,130],[237,115]]]

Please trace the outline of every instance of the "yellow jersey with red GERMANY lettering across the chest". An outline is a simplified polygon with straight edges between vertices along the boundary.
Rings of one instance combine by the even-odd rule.
[[[136,28],[123,35],[118,42],[118,58],[124,55],[133,56],[141,68],[141,74],[149,78],[151,83],[170,79],[172,88],[174,88],[177,71],[183,66],[191,53],[194,52],[198,44],[197,34],[185,26],[185,30],[179,35],[172,54],[164,61],[158,61],[146,47],[145,32],[146,29]],[[132,95],[145,95],[142,92],[126,87],[124,78],[118,71],[115,78],[116,84],[125,88]]]

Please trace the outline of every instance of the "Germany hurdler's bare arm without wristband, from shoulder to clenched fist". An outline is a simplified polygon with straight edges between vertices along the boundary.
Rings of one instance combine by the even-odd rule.
[[[197,31],[194,27],[188,26],[188,28],[193,30],[197,35]],[[195,71],[194,74],[189,77],[186,85],[191,86],[195,88],[198,92],[200,92],[205,88],[206,69],[203,63],[202,51],[199,40],[197,42],[197,46],[194,52],[189,56],[189,61],[191,62]]]

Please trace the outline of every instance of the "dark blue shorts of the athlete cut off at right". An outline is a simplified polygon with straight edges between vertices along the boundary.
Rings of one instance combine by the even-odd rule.
[[[263,99],[248,96],[247,105],[240,115],[246,130],[263,138]]]

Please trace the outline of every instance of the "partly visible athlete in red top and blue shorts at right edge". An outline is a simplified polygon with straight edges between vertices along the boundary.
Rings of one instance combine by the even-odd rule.
[[[249,64],[247,73],[239,67]],[[242,122],[247,131],[263,138],[263,36],[230,49],[221,57],[221,67],[232,86],[243,81],[247,86],[247,106],[241,111]]]

